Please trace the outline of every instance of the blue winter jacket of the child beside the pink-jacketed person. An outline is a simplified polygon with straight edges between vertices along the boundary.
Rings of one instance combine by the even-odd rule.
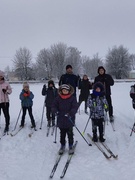
[[[26,91],[23,89],[20,93],[20,100],[22,107],[30,107],[33,105],[32,99],[34,98],[34,94],[30,91],[30,95],[28,97],[24,97],[23,94],[26,93]]]

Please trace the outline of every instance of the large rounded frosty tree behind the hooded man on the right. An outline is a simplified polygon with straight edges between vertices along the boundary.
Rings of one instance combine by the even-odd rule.
[[[106,55],[106,68],[116,79],[127,78],[130,71],[130,54],[122,45],[109,49]]]

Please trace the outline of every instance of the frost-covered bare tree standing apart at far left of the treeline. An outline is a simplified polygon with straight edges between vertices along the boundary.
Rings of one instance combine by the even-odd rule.
[[[13,64],[15,74],[19,79],[27,80],[32,78],[32,54],[27,48],[20,48],[16,51]]]

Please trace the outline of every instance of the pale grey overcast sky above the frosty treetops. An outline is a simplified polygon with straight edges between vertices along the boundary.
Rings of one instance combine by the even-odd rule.
[[[135,54],[135,0],[0,0],[1,70],[20,47],[36,57],[59,42],[90,57],[121,44]]]

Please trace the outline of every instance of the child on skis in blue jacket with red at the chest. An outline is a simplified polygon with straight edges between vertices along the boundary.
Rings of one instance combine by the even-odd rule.
[[[31,124],[32,124],[31,128],[34,128],[36,130],[36,124],[35,124],[35,120],[32,114],[32,105],[33,105],[32,99],[33,98],[34,98],[34,95],[29,89],[29,84],[27,82],[24,82],[23,90],[20,93],[20,100],[21,100],[22,112],[23,112],[20,127],[24,127],[26,111],[28,110],[29,116],[31,119]]]

